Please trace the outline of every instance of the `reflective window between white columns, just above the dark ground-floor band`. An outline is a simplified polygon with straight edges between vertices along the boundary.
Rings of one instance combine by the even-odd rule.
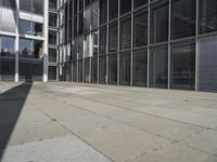
[[[25,58],[42,58],[42,41],[20,39],[18,41],[20,57]]]

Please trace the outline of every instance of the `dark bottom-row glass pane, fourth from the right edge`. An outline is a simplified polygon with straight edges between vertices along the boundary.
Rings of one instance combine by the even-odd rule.
[[[146,50],[138,50],[133,52],[133,86],[146,86]]]

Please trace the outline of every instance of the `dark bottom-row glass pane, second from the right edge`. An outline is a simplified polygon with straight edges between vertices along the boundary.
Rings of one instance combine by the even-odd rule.
[[[171,49],[171,87],[194,90],[195,45]]]

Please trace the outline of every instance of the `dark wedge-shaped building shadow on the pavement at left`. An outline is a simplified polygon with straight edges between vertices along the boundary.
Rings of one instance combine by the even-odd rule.
[[[24,107],[31,82],[25,82],[0,94],[0,161]]]

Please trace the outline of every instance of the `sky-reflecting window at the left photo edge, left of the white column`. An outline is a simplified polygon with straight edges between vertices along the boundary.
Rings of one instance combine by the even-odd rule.
[[[0,56],[14,56],[14,38],[0,37]]]

